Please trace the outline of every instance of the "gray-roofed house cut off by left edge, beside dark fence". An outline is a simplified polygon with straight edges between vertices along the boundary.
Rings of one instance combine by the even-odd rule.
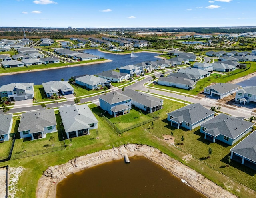
[[[0,114],[0,141],[8,141],[12,130],[12,114]]]

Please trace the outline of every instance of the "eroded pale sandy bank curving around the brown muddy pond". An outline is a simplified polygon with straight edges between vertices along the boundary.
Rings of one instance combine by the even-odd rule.
[[[70,160],[66,164],[49,167],[38,181],[36,190],[37,198],[54,198],[57,183],[65,178],[68,174],[80,171],[84,168],[94,166],[110,160],[121,159],[125,154],[128,156],[145,156],[156,162],[162,167],[172,172],[181,179],[186,180],[187,184],[202,192],[211,198],[236,198],[230,192],[224,190],[214,182],[208,180],[195,170],[174,160],[168,155],[160,152],[160,150],[146,145],[128,144],[118,148],[102,150],[85,156],[80,156]]]

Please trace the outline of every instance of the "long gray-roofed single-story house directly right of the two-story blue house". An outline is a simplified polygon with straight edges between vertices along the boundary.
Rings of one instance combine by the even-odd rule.
[[[122,94],[132,98],[132,105],[146,112],[153,113],[163,107],[163,99],[146,93],[134,91],[132,89],[125,89]]]

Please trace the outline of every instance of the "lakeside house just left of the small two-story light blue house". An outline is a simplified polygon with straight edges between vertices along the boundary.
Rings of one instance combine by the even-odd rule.
[[[96,76],[118,83],[128,80],[130,77],[128,73],[120,73],[117,71],[102,71],[101,73],[96,74]]]

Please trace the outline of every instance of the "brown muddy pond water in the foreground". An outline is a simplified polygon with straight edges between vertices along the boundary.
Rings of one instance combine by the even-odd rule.
[[[70,174],[57,185],[56,198],[206,198],[143,156],[114,160]]]

